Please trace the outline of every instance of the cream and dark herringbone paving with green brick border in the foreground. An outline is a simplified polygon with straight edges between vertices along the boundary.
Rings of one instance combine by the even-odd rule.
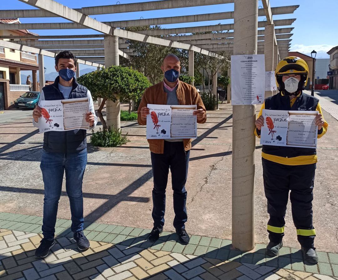
[[[318,265],[304,264],[299,250],[282,248],[268,258],[264,245],[241,254],[231,240],[192,236],[183,246],[177,235],[162,233],[146,241],[149,230],[107,224],[86,225],[91,249],[80,253],[68,227],[57,219],[56,245],[44,259],[34,257],[39,246],[42,217],[0,212],[0,278],[3,280],[329,280],[338,279],[338,254],[318,252]]]

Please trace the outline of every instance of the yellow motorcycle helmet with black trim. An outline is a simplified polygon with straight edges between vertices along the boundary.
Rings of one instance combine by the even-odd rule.
[[[298,74],[300,75],[300,81],[298,84],[298,90],[304,90],[308,83],[309,67],[305,60],[297,56],[288,56],[281,60],[275,70],[276,84],[280,92],[285,90],[283,83],[283,75]]]

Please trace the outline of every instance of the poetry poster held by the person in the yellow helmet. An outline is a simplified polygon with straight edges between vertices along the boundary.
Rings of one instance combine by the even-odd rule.
[[[261,144],[302,148],[317,147],[317,111],[263,110]]]

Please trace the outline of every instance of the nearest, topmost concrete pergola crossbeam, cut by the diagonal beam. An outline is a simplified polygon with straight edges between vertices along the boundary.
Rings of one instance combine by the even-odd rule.
[[[28,0],[25,0],[24,2],[28,2]],[[129,13],[129,12],[135,12],[135,11],[174,9],[174,8],[227,4],[227,3],[234,3],[234,0],[151,1],[151,2],[143,2],[143,3],[83,7],[83,8],[74,9],[74,10],[84,15],[105,15],[105,14],[116,14],[116,13]],[[52,13],[49,10],[1,10],[0,11],[0,18],[25,18],[25,17],[26,18],[45,18],[45,17],[59,17],[59,16]]]

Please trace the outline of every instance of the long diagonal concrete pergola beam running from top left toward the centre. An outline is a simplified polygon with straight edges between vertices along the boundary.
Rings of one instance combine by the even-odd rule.
[[[36,8],[40,8],[42,10],[51,12],[54,15],[57,15],[58,17],[62,17],[64,19],[70,20],[72,22],[75,23],[80,23],[83,26],[87,27],[87,28],[91,28],[93,30],[96,30],[98,32],[104,33],[106,35],[113,35],[113,36],[117,36],[117,37],[121,37],[121,38],[126,38],[126,39],[130,39],[130,40],[135,40],[135,41],[141,41],[141,42],[145,42],[145,43],[150,43],[150,44],[156,44],[156,45],[162,45],[162,46],[170,46],[173,48],[180,48],[180,49],[186,49],[186,50],[193,50],[205,55],[209,55],[212,57],[219,57],[218,54],[207,51],[207,50],[203,50],[201,48],[198,48],[196,46],[193,45],[189,45],[189,44],[184,44],[184,43],[179,43],[179,42],[174,42],[174,41],[169,41],[169,40],[164,40],[161,38],[156,38],[156,37],[151,37],[151,36],[144,36],[142,34],[136,33],[136,32],[131,32],[131,31],[126,31],[123,29],[116,29],[113,28],[111,26],[108,26],[102,22],[99,22],[89,16],[88,13],[85,14],[81,14],[76,10],[73,10],[67,6],[64,6],[58,2],[52,1],[52,0],[19,0],[20,2],[24,2],[27,3],[31,6],[34,6]],[[173,0],[176,1],[176,0]],[[181,1],[181,0],[178,0]],[[202,1],[202,0],[200,0]],[[211,0],[203,0],[203,1],[207,1],[210,2]],[[214,1],[214,0],[212,0]],[[226,0],[217,0],[220,2],[226,1]],[[167,2],[171,2],[171,1],[167,1]],[[192,1],[189,1],[192,2]],[[197,1],[195,1],[195,3],[197,3]],[[140,4],[139,3],[134,3],[136,6],[138,6],[138,10],[140,10]],[[148,4],[153,5],[153,2],[149,2]],[[118,5],[119,6],[119,5]],[[10,24],[7,24],[7,26],[10,26]]]

